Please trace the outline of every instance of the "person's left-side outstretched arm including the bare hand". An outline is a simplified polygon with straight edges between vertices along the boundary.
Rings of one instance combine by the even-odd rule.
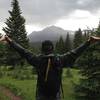
[[[31,52],[24,49],[21,45],[14,42],[11,38],[9,38],[7,35],[2,36],[0,41],[3,41],[7,44],[9,44],[12,48],[14,48],[22,57],[26,58],[27,61],[33,65],[36,66],[37,64],[37,57],[34,56]]]

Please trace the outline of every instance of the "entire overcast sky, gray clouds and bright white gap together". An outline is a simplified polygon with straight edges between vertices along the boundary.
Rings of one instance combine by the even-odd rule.
[[[12,0],[0,0],[0,32],[9,17]],[[97,27],[100,18],[100,0],[19,0],[26,19],[28,33],[48,25],[66,30]]]

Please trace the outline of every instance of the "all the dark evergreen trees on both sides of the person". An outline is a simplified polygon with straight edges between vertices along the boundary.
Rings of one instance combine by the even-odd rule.
[[[11,3],[12,10],[8,11],[10,17],[6,19],[6,27],[3,31],[26,49],[31,49],[27,32],[25,30],[25,19],[21,15],[20,6],[17,0]],[[100,36],[100,24],[94,30],[78,29],[74,39],[67,33],[64,40],[61,36],[55,44],[56,53],[66,53],[85,42],[90,35]],[[79,84],[75,84],[76,100],[100,100],[100,42],[95,43],[79,57],[75,65],[81,74]],[[24,66],[26,61],[11,49],[9,45],[0,43],[0,66]]]

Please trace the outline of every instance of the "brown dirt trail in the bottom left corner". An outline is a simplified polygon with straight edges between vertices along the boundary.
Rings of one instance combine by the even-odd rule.
[[[0,86],[0,92],[9,97],[11,100],[22,100],[20,96],[16,96],[9,88],[4,86]]]

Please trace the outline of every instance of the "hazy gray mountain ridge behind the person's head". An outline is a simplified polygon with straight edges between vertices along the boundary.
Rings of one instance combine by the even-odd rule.
[[[44,40],[56,41],[60,36],[66,37],[69,32],[70,36],[73,36],[74,31],[64,30],[60,27],[49,26],[44,28],[42,31],[33,31],[28,35],[30,42],[41,42]]]

